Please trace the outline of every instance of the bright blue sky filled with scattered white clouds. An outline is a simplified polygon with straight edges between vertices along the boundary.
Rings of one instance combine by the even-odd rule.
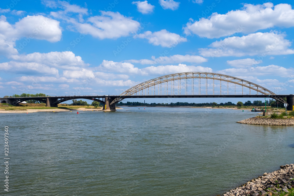
[[[293,1],[1,1],[1,96],[116,95],[189,71],[293,94],[293,33]]]

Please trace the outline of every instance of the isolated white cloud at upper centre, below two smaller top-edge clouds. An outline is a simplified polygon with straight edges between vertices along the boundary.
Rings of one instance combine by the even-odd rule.
[[[145,38],[148,39],[148,43],[153,44],[154,46],[162,47],[174,47],[178,43],[186,42],[187,38],[181,37],[176,33],[170,33],[166,29],[156,31],[152,33],[151,31],[145,31],[144,33],[137,34],[133,36],[134,38]]]

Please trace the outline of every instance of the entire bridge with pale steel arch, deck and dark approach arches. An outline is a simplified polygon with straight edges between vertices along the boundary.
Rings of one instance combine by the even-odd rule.
[[[294,95],[277,95],[272,91],[249,81],[233,76],[207,73],[175,73],[140,83],[120,95],[97,96],[55,96],[1,98],[1,103],[17,105],[26,100],[38,100],[46,107],[72,99],[89,99],[103,103],[103,110],[115,111],[115,104],[125,98],[273,98],[287,103],[287,110],[293,110]],[[286,98],[285,101],[283,98]]]

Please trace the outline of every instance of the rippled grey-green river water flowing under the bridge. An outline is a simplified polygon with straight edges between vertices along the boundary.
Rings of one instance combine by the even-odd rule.
[[[294,127],[236,123],[255,115],[150,107],[2,113],[9,195],[222,194],[294,163]]]

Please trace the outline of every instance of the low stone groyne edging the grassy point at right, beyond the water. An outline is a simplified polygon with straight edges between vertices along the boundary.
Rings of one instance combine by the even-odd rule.
[[[238,121],[237,123],[251,125],[294,125],[294,118],[259,118],[253,117]]]

